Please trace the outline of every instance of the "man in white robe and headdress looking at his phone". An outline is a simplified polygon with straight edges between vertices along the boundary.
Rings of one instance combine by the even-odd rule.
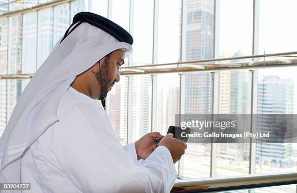
[[[152,132],[123,147],[103,109],[132,42],[104,17],[74,16],[0,139],[0,182],[31,183],[30,193],[170,192],[186,145]]]

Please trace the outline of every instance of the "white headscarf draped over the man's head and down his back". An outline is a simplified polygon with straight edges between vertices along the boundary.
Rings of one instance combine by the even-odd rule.
[[[77,75],[116,49],[125,49],[125,57],[131,54],[129,43],[105,31],[89,22],[74,23],[36,71],[0,138],[0,182],[20,182],[20,156],[59,121],[56,113],[60,99]]]

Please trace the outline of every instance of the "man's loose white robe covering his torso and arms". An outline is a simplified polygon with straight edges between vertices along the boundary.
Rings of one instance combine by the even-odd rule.
[[[57,116],[21,158],[28,193],[170,192],[177,173],[165,146],[138,161],[135,143],[120,144],[103,107],[71,86]]]

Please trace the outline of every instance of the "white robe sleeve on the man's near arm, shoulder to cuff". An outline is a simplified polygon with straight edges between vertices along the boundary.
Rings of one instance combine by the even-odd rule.
[[[67,108],[63,116],[72,122],[57,129],[52,151],[66,176],[82,192],[170,192],[177,173],[165,146],[157,147],[136,165],[117,140],[103,109],[80,104]]]

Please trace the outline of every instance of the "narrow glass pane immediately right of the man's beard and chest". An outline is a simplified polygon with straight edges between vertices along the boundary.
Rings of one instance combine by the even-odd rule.
[[[109,117],[122,145],[127,144],[128,77],[120,77],[109,92]]]

